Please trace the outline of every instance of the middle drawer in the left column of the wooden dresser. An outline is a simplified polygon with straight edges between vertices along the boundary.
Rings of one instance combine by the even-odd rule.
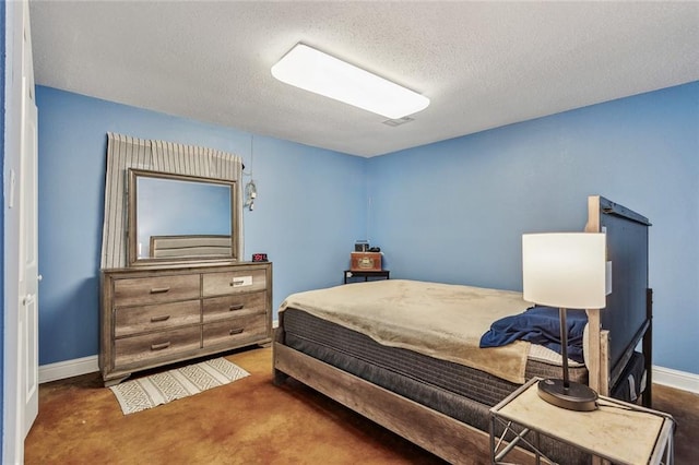
[[[122,307],[115,310],[115,337],[201,322],[199,300],[161,303],[144,307]]]

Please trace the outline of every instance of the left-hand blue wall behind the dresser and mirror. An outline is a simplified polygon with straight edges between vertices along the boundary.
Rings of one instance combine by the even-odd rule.
[[[266,252],[274,306],[340,284],[366,231],[366,159],[38,86],[39,363],[98,353],[99,257],[107,132],[240,155],[258,199],[246,211],[245,259]],[[250,178],[245,178],[247,182]]]

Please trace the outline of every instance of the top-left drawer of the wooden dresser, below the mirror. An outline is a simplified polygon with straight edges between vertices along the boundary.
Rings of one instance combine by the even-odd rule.
[[[199,274],[115,279],[114,306],[171,302],[199,298]]]

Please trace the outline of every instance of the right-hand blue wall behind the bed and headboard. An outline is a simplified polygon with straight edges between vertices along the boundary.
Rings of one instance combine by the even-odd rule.
[[[369,159],[391,276],[521,289],[521,235],[587,196],[648,216],[654,365],[699,373],[699,82]]]

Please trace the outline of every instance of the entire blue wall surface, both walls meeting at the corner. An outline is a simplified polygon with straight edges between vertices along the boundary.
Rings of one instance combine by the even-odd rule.
[[[42,365],[97,354],[112,131],[244,156],[259,192],[246,258],[274,261],[275,307],[339,284],[367,230],[392,276],[520,289],[521,234],[580,230],[604,195],[653,223],[655,365],[699,373],[699,83],[370,159],[257,135],[251,157],[235,129],[47,87],[37,102]]]

